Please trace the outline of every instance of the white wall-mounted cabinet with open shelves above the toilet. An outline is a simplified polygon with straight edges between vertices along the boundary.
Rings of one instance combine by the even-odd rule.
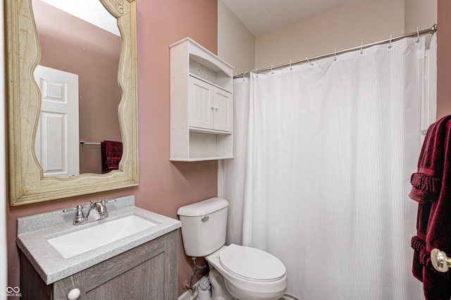
[[[189,37],[170,47],[171,161],[233,158],[233,67]]]

